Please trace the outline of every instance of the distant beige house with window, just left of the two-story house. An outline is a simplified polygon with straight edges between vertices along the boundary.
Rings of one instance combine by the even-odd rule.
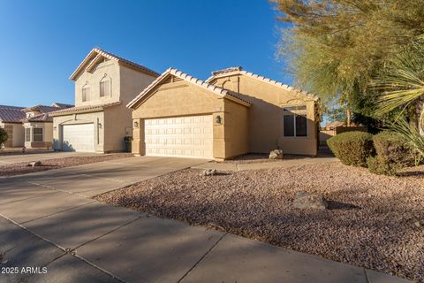
[[[51,149],[53,142],[53,119],[49,112],[71,108],[73,105],[53,103],[51,106],[36,105],[22,109],[26,118],[21,119],[25,128],[27,149]]]

